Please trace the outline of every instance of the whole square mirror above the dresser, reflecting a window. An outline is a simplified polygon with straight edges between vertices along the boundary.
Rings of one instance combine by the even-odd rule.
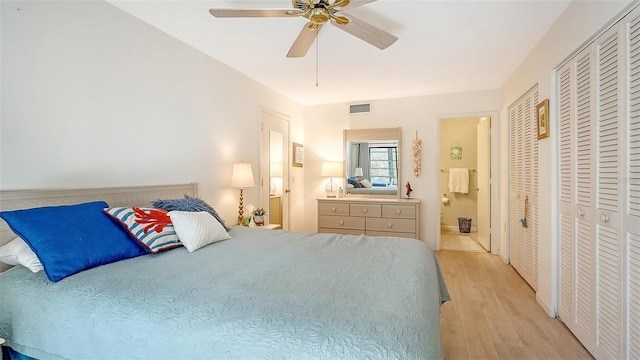
[[[402,129],[344,130],[345,193],[399,198]]]

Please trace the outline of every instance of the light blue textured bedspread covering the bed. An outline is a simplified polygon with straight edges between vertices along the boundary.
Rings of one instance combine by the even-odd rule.
[[[423,242],[230,233],[58,283],[12,268],[0,274],[0,337],[40,359],[442,358],[448,293]]]

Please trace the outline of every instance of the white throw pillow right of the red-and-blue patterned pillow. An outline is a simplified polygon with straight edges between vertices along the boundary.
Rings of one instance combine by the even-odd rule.
[[[216,241],[231,239],[224,226],[206,211],[169,211],[169,217],[180,242],[189,252]]]

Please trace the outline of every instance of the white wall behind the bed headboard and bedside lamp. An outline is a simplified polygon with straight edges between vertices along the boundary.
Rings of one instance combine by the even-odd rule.
[[[106,2],[1,6],[0,189],[197,182],[233,223],[232,164],[258,182],[260,108],[302,140],[300,105]]]

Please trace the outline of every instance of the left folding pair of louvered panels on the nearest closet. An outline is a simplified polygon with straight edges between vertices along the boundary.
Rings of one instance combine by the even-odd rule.
[[[558,315],[590,351],[595,349],[595,141],[592,52],[558,72],[560,115],[560,293]]]

